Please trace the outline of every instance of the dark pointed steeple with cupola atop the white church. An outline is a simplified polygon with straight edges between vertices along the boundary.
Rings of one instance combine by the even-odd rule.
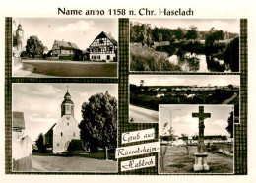
[[[64,101],[61,104],[61,117],[63,115],[72,115],[74,117],[74,103],[71,100],[71,95],[68,90],[67,86],[67,92],[64,96]]]

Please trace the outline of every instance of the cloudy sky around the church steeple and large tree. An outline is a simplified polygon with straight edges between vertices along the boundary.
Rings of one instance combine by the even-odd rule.
[[[24,112],[25,135],[35,141],[39,133],[45,134],[61,117],[60,105],[67,92],[75,104],[74,117],[82,120],[81,106],[99,92],[108,93],[118,99],[117,84],[13,84],[13,111]]]

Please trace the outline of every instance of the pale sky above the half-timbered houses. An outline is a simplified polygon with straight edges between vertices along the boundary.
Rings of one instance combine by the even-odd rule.
[[[26,40],[31,35],[37,35],[48,50],[52,48],[54,40],[64,40],[76,43],[86,50],[101,32],[111,32],[118,41],[118,19],[78,19],[78,18],[13,18],[13,30],[17,30],[19,24],[24,30],[25,47]]]

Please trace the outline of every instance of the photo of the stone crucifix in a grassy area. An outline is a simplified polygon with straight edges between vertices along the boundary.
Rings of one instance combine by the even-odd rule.
[[[233,105],[160,105],[160,174],[232,174]]]

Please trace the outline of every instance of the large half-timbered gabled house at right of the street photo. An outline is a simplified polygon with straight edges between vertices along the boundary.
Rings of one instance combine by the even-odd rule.
[[[117,61],[117,41],[106,32],[99,33],[90,48],[90,60]]]

